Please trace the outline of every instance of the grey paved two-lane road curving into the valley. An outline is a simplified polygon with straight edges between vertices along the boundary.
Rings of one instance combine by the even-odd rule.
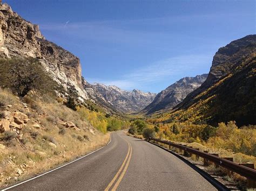
[[[172,154],[124,135],[72,164],[10,190],[216,190]]]

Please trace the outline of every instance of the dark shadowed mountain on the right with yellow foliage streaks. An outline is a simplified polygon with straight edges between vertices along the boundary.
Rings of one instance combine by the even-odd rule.
[[[206,81],[174,107],[173,119],[213,125],[228,121],[236,121],[239,126],[255,125],[255,56],[255,34],[219,48]]]

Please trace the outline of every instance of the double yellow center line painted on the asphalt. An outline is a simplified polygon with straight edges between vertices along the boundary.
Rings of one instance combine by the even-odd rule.
[[[125,140],[126,141],[126,140]],[[127,142],[127,141],[126,141]],[[112,187],[112,191],[116,190],[117,187],[119,186],[120,182],[122,181],[122,179],[124,178],[124,174],[127,171],[127,168],[129,166],[131,157],[132,157],[132,146],[129,142],[127,142],[128,144],[128,153],[126,154],[126,157],[124,159],[123,164],[121,165],[121,167],[119,168],[119,170],[117,171],[117,174],[114,175],[114,178],[111,180],[111,182],[109,183],[109,185],[107,185],[107,187],[105,188],[104,191],[108,191],[110,190],[110,188],[112,187],[113,183],[117,180],[118,176],[118,180],[116,181],[116,183],[114,184],[114,186]]]

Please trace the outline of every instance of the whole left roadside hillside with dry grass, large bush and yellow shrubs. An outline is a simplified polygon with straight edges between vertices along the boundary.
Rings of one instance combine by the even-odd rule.
[[[0,60],[0,187],[29,178],[109,142],[127,119],[95,103],[57,96],[36,59]]]

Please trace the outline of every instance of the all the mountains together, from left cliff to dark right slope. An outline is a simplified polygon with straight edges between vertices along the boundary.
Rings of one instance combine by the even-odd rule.
[[[184,77],[159,94],[90,84],[77,56],[46,40],[34,25],[4,3],[0,6],[0,57],[37,58],[59,84],[57,94],[90,100],[110,112],[171,112],[170,120],[256,124],[256,35],[234,40],[214,55],[210,73]]]

